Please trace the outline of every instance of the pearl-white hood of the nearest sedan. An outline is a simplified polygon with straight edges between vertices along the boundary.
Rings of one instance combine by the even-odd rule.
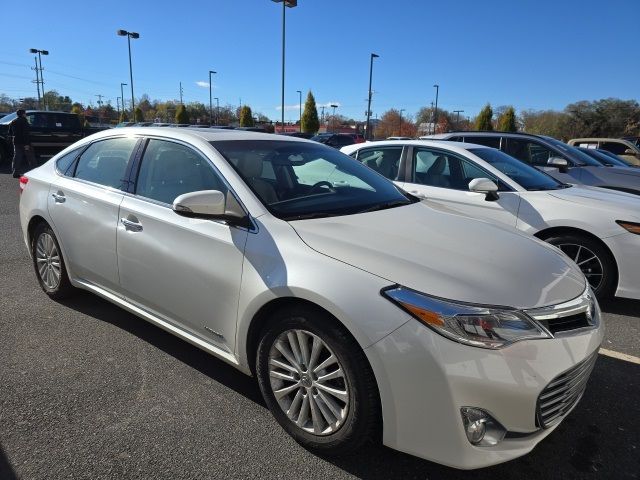
[[[451,300],[533,308],[573,299],[586,287],[554,247],[425,202],[290,223],[324,255]]]

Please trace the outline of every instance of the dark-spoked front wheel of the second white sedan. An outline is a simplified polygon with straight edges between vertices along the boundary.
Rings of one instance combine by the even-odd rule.
[[[617,285],[616,262],[599,242],[582,235],[558,235],[545,241],[558,247],[578,264],[599,300],[613,295]]]

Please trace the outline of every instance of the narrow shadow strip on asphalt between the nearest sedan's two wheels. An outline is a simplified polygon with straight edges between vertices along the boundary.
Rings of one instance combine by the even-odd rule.
[[[88,292],[60,302],[66,307],[125,330],[195,368],[212,380],[265,406],[255,380],[190,343]],[[266,406],[265,406],[266,408]],[[0,477],[1,478],[1,477]]]

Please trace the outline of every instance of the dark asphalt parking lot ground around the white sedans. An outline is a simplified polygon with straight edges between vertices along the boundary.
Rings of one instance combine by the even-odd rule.
[[[385,447],[313,455],[277,425],[253,379],[98,297],[44,295],[18,199],[0,167],[2,480],[640,478],[640,365],[609,355],[563,424],[510,463],[462,472]],[[640,302],[603,309],[603,347],[640,357]]]

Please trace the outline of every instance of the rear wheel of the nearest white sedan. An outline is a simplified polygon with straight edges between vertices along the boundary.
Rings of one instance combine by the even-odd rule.
[[[31,240],[33,268],[42,290],[54,300],[62,300],[74,293],[69,281],[62,250],[55,233],[46,223],[40,223]]]

